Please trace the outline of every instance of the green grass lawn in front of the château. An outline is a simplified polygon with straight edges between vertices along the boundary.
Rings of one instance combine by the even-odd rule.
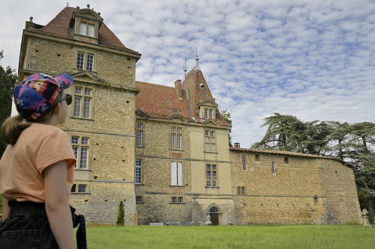
[[[87,227],[90,249],[104,248],[375,248],[375,226],[256,225]]]

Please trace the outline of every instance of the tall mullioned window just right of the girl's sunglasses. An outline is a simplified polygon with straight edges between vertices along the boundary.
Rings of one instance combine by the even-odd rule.
[[[86,87],[74,88],[73,116],[90,118],[92,89]]]

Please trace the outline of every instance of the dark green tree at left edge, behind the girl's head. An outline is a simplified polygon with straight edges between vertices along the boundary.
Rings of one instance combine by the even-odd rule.
[[[0,61],[4,58],[4,51],[0,52]],[[15,70],[12,70],[9,66],[6,69],[0,65],[0,122],[1,124],[10,116],[12,111],[12,96],[16,79],[18,78]],[[3,155],[6,145],[0,138],[0,155]]]

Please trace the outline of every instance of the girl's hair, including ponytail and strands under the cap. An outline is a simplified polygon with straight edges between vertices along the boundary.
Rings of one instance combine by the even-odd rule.
[[[44,112],[41,113],[41,115],[37,119],[33,121],[24,118],[24,116],[28,117],[30,114],[32,114],[32,110],[21,110],[17,116],[7,118],[1,126],[1,137],[3,141],[7,145],[14,145],[17,142],[18,137],[20,137],[21,132],[29,127],[32,122],[37,123],[48,119],[47,114],[51,113],[54,110],[56,104],[60,102],[61,99],[62,91],[58,92],[51,106],[49,106]]]

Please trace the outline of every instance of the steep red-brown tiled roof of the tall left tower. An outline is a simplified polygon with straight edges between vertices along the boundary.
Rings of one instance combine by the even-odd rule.
[[[72,15],[76,10],[77,9],[73,7],[65,7],[44,27],[40,28],[39,30],[27,31],[75,40],[73,27],[70,27],[69,24],[71,22]],[[107,25],[104,24],[104,22],[99,28],[98,38],[98,45],[141,55],[139,52],[126,48],[120,39],[118,39],[118,37],[107,27]]]

